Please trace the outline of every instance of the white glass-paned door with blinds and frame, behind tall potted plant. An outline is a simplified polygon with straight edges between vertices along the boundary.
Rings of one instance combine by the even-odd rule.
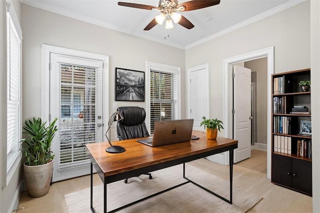
[[[52,142],[52,181],[90,172],[85,143],[103,141],[101,60],[50,53],[50,117],[57,117]]]

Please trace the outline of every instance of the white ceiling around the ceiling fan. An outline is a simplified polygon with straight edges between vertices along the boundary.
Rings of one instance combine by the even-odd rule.
[[[120,1],[158,5],[158,0]],[[185,1],[179,0],[179,3]],[[165,30],[164,24],[157,24],[145,31],[143,28],[159,14],[158,11],[119,6],[118,0],[20,0],[31,6],[182,49],[195,46],[303,1],[221,0],[214,6],[181,12],[194,24],[192,29],[174,24],[172,29]]]

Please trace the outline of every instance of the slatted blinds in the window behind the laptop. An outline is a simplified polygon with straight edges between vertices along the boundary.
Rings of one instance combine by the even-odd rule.
[[[156,120],[178,119],[178,74],[150,69],[150,133]]]

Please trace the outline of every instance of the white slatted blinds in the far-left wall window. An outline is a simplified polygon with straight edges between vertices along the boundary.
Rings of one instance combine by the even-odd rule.
[[[20,38],[7,15],[7,153],[18,147],[20,104]]]

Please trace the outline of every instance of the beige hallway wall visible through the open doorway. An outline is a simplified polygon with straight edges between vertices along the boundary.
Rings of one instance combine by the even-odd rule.
[[[244,62],[244,67],[256,71],[257,142],[266,144],[267,131],[267,58]]]

